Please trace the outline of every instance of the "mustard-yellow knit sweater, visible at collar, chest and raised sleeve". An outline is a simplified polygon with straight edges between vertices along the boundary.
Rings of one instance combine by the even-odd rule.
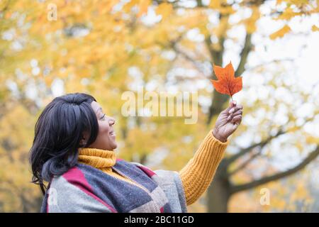
[[[220,142],[210,131],[194,154],[194,157],[179,171],[188,206],[193,204],[208,189],[228,143],[229,140],[225,143]],[[80,148],[79,162],[96,167],[108,175],[142,188],[139,184],[123,177],[111,168],[116,163],[116,153],[113,150]]]

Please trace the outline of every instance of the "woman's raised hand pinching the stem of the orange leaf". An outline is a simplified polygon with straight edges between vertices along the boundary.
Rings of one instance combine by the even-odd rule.
[[[235,101],[230,102],[230,106],[222,111],[213,128],[213,135],[221,142],[226,142],[228,136],[233,134],[242,122],[242,105],[237,105]]]

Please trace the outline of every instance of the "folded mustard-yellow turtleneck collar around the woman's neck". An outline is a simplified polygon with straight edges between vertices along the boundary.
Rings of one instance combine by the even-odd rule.
[[[116,164],[116,153],[113,150],[96,148],[79,148],[79,162],[98,169],[111,168]]]

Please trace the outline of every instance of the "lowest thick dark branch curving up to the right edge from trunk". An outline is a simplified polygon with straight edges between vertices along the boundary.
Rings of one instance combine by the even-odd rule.
[[[308,157],[306,157],[301,163],[296,165],[295,167],[286,170],[284,172],[279,172],[274,175],[263,177],[262,179],[257,179],[252,182],[246,183],[246,184],[239,184],[234,185],[230,189],[230,194],[235,194],[237,192],[241,192],[247,189],[252,189],[254,187],[258,187],[262,184],[267,184],[268,182],[272,182],[277,179],[281,179],[284,177],[288,177],[289,175],[293,175],[294,173],[298,172],[299,170],[302,170],[306,165],[308,165],[312,160],[314,160],[319,155],[319,145],[315,148],[313,152],[311,152]]]

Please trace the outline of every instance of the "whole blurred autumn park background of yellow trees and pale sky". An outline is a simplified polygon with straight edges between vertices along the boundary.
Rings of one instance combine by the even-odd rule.
[[[230,96],[242,125],[189,212],[319,211],[319,1],[0,0],[0,211],[38,212],[28,151],[55,96],[86,92],[116,118],[118,157],[179,171]],[[198,122],[124,117],[125,91],[198,92]],[[137,110],[141,111],[141,110]],[[266,196],[266,197],[265,197]],[[268,199],[268,200],[267,200]]]

